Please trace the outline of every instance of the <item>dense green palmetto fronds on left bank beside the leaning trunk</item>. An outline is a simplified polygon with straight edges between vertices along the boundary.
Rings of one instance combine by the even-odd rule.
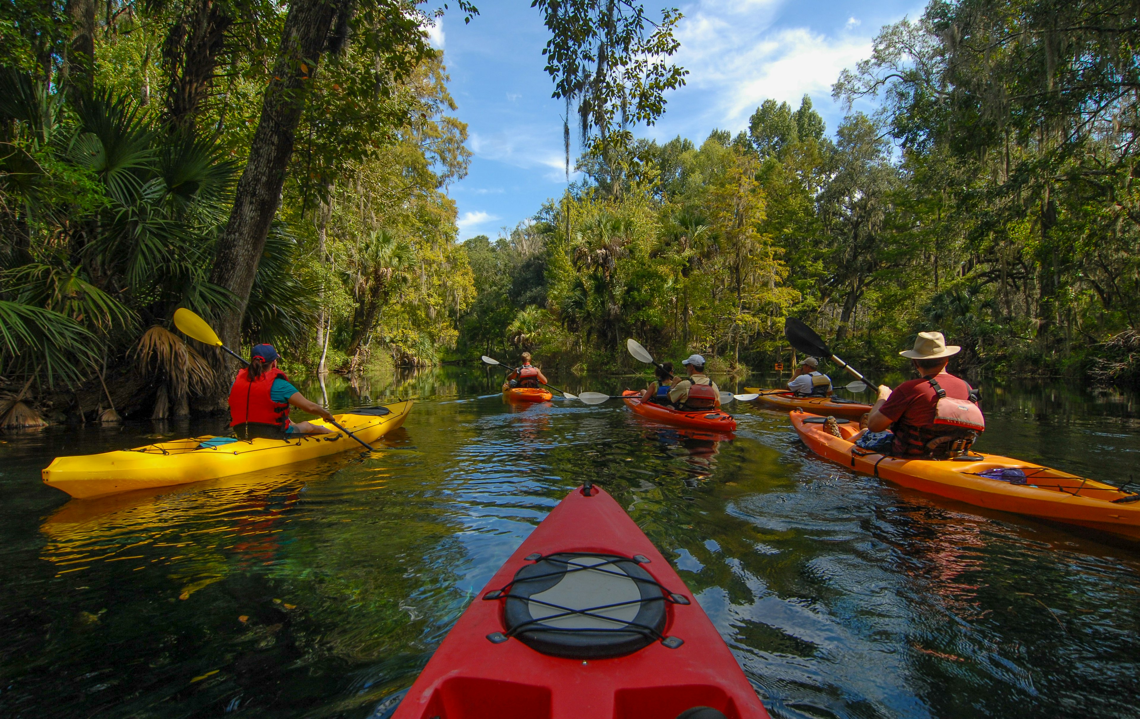
[[[76,385],[135,345],[184,406],[202,358],[135,328],[179,305],[229,305],[207,272],[234,167],[111,90],[67,106],[58,88],[0,71],[13,128],[0,144],[0,375]]]

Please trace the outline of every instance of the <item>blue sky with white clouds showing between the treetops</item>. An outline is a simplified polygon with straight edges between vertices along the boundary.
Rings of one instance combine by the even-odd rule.
[[[543,71],[547,33],[538,10],[529,0],[477,6],[480,14],[469,25],[450,13],[431,33],[445,50],[456,115],[467,123],[474,153],[467,176],[448,191],[458,207],[461,241],[494,237],[565,188],[564,105],[551,97]],[[660,9],[653,0],[645,7]],[[681,135],[699,144],[716,128],[744,129],[765,98],[797,107],[805,94],[833,132],[842,118],[831,99],[840,70],[870,54],[882,25],[918,17],[923,3],[698,0],[679,8],[685,18],[677,62],[690,71],[687,84],[668,94],[658,124],[636,134],[659,140]]]

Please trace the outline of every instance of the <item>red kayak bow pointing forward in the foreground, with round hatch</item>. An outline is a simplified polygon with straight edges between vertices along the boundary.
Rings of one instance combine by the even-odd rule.
[[[767,719],[669,563],[571,492],[463,613],[393,719]]]

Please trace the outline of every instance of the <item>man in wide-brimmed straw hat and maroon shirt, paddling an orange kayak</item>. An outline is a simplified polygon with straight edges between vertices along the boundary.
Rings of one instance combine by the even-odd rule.
[[[907,380],[894,391],[886,385],[879,385],[879,399],[868,417],[870,431],[887,428],[894,431],[891,454],[937,457],[955,442],[959,447],[968,449],[977,436],[977,431],[970,429],[970,426],[958,420],[952,420],[955,423],[945,423],[946,419],[939,415],[939,401],[944,397],[959,401],[958,404],[963,404],[961,401],[977,404],[974,388],[946,372],[946,363],[961,349],[955,345],[946,345],[942,332],[919,332],[914,339],[914,349],[898,353],[910,357],[919,379]],[[976,409],[971,409],[971,412],[976,412],[977,420],[980,421],[980,412]],[[961,441],[966,441],[964,444]]]

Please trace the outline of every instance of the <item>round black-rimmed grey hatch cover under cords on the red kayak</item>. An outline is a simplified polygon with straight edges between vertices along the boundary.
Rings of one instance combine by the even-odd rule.
[[[515,637],[552,656],[605,659],[632,654],[663,637],[666,603],[689,604],[640,566],[643,557],[560,552],[534,557],[504,589],[483,599],[505,599],[504,637]],[[495,641],[495,639],[491,639]]]

